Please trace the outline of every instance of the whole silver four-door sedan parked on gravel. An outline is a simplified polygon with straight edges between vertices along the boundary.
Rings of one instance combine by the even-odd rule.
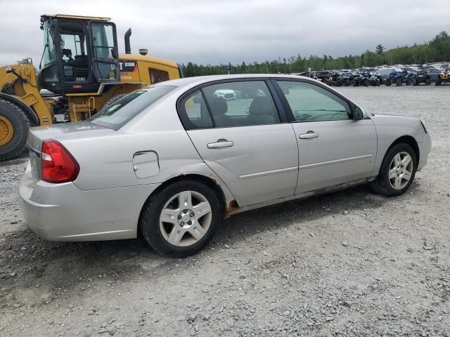
[[[264,74],[165,81],[87,121],[32,128],[28,145],[19,193],[39,237],[140,232],[183,257],[242,211],[363,183],[402,194],[431,140],[420,119],[370,114],[314,79]]]

